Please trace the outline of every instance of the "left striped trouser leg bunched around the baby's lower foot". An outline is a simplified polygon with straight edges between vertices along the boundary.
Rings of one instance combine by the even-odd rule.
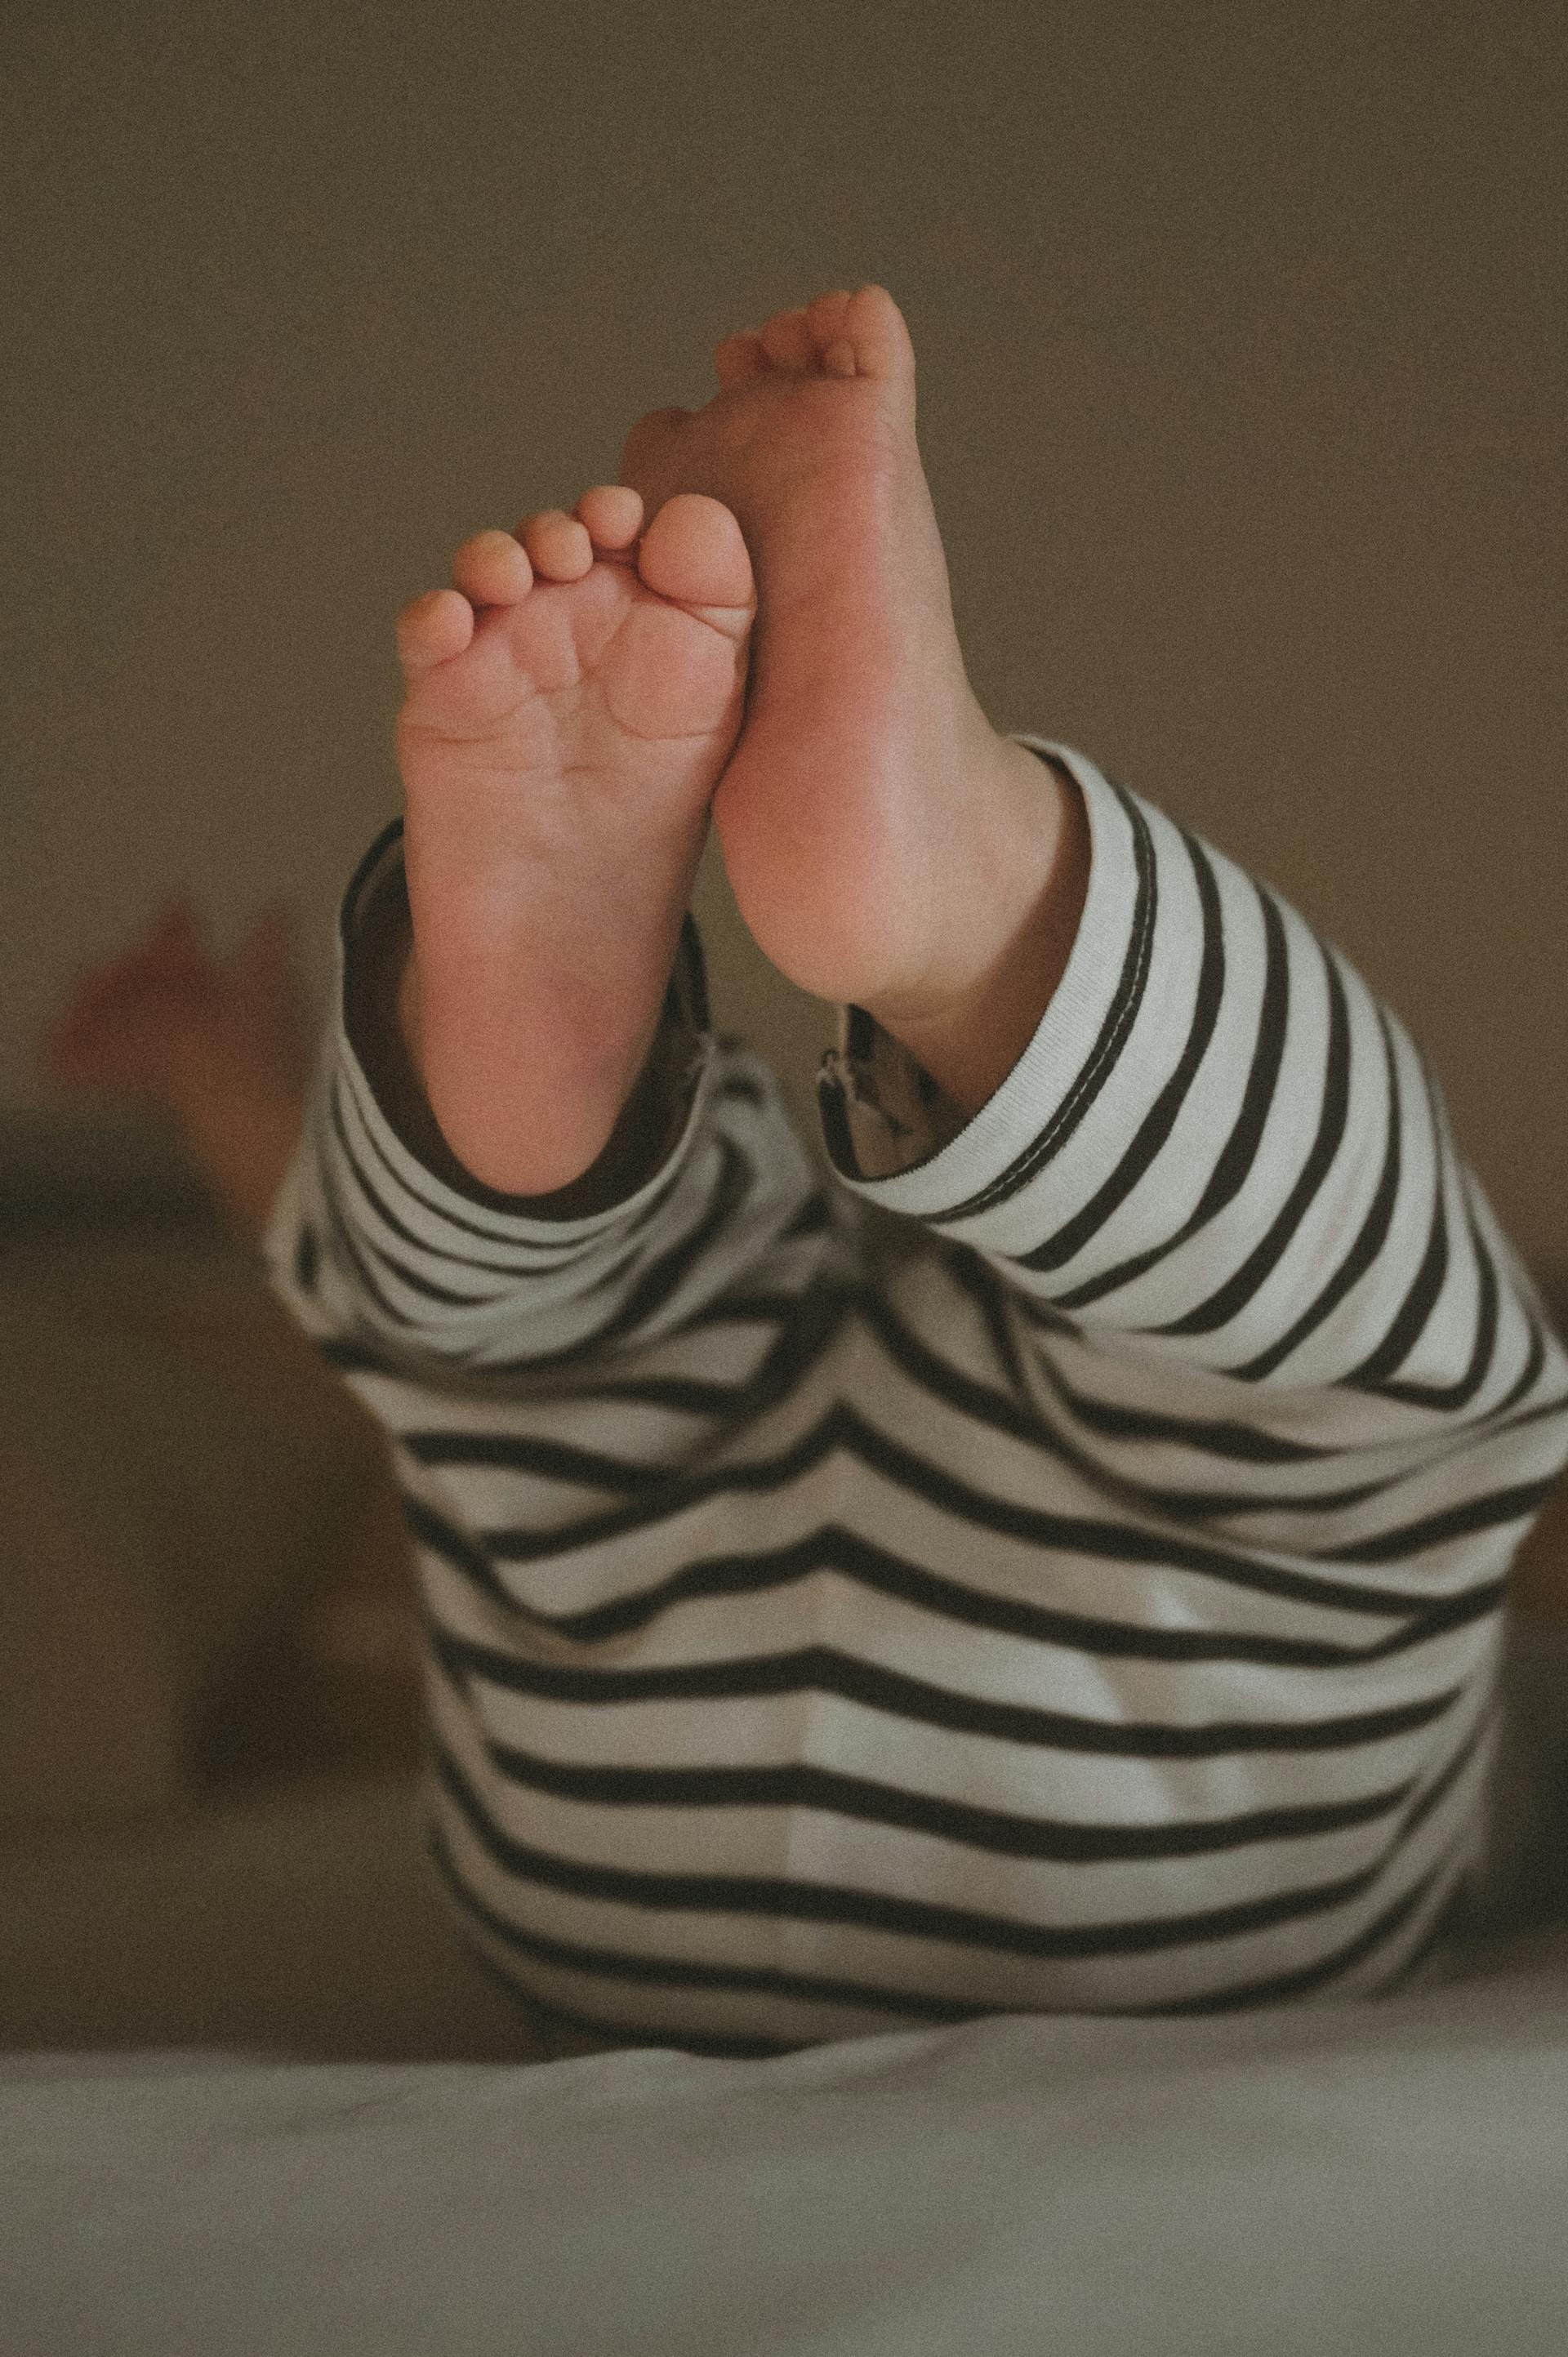
[[[799,1296],[835,1249],[823,1188],[776,1084],[707,1025],[691,919],[665,1002],[667,1150],[622,1202],[547,1216],[457,1190],[403,1143],[354,1051],[347,978],[363,917],[401,891],[401,825],[361,863],[337,929],[337,988],[264,1256],[283,1303],[347,1374],[424,1388],[545,1376],[658,1341],[722,1299]],[[377,1412],[398,1414],[384,1400]]]

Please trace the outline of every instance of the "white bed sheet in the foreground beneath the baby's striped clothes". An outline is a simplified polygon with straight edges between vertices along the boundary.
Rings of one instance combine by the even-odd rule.
[[[7,2357],[1563,2357],[1568,1937],[771,2062],[0,2060]]]

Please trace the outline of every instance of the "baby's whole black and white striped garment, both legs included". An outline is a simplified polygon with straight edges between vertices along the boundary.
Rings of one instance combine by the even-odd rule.
[[[837,1188],[691,931],[691,1110],[597,1216],[453,1190],[323,1044],[269,1268],[391,1435],[460,1930],[587,2034],[1349,1999],[1476,1860],[1563,1353],[1346,962],[1019,742],[1089,811],[1066,978],[969,1122],[846,1011]]]

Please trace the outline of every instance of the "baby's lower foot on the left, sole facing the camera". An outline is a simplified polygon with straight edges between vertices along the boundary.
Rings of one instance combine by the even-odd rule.
[[[568,1186],[611,1136],[740,728],[740,526],[693,495],[646,514],[611,483],[479,533],[398,615],[420,1070],[507,1195]]]

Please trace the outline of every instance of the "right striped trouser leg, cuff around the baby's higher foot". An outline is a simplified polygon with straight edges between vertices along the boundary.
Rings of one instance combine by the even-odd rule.
[[[1014,1393],[1113,1494],[1495,1579],[1563,1464],[1566,1362],[1431,1072],[1278,893],[1019,742],[1089,816],[1063,981],[971,1120],[846,1009],[835,1169],[967,1268]]]

